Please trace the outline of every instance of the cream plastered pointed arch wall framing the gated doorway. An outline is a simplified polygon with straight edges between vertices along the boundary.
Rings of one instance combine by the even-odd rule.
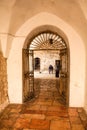
[[[67,36],[70,48],[69,106],[84,106],[85,49],[79,35],[55,15],[43,12],[29,19],[16,33],[8,57],[8,87],[11,103],[22,103],[22,48],[27,35],[38,26],[53,25]],[[24,37],[22,37],[24,36]]]

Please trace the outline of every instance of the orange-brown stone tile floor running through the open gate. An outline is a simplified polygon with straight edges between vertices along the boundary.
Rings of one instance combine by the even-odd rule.
[[[39,80],[39,85],[36,99],[9,104],[4,109],[0,114],[0,130],[87,130],[84,110],[67,108],[59,100],[55,80]]]

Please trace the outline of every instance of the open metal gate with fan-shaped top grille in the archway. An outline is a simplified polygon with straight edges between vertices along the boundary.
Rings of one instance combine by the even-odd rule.
[[[52,31],[42,31],[35,35],[26,49],[23,49],[23,101],[31,100],[35,97],[34,88],[34,52],[50,51],[56,52],[60,63],[60,86],[58,91],[66,100],[69,101],[69,49],[65,40],[58,33]],[[36,59],[38,60],[38,59]],[[39,61],[39,60],[38,60]],[[35,61],[36,62],[36,61]],[[45,67],[46,68],[46,67]],[[41,70],[40,70],[41,72]]]

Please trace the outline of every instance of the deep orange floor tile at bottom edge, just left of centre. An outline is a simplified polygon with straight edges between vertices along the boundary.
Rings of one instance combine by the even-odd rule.
[[[31,129],[49,130],[50,121],[41,119],[32,119],[30,123]]]

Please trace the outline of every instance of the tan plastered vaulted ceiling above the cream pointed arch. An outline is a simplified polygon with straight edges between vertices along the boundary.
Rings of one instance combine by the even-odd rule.
[[[15,35],[24,22],[40,12],[60,17],[76,31],[87,30],[86,0],[0,0],[0,33]]]

